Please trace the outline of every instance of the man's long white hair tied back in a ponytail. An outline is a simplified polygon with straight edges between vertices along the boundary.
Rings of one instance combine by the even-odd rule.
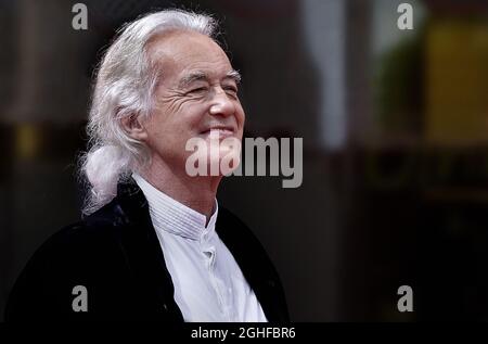
[[[82,209],[89,215],[114,199],[117,183],[149,163],[145,145],[130,138],[121,119],[150,116],[158,71],[147,56],[147,42],[164,31],[192,30],[215,38],[216,21],[205,14],[164,10],[123,26],[104,54],[93,90],[87,126],[89,151],[80,158],[88,193]]]

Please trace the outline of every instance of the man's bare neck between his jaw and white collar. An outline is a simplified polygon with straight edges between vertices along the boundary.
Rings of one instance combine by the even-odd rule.
[[[139,174],[157,190],[205,215],[208,224],[221,176],[190,177],[184,170],[171,168],[160,160],[153,160]]]

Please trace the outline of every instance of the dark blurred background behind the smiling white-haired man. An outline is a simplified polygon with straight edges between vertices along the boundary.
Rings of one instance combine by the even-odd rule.
[[[75,3],[88,29],[75,30]],[[401,2],[413,29],[397,26]],[[0,0],[0,319],[35,250],[80,217],[93,69],[123,23],[221,22],[247,137],[304,138],[304,181],[230,177],[294,321],[488,320],[488,1]],[[397,290],[413,290],[399,313]],[[33,290],[33,293],[36,291]]]

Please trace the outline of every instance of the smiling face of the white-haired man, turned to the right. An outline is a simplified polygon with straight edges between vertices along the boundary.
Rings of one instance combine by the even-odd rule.
[[[201,138],[208,145],[217,135],[220,140],[242,140],[245,115],[236,75],[216,42],[201,34],[174,31],[153,39],[149,53],[162,71],[153,113],[143,124],[153,161],[180,171],[192,154],[185,150],[190,139]]]

